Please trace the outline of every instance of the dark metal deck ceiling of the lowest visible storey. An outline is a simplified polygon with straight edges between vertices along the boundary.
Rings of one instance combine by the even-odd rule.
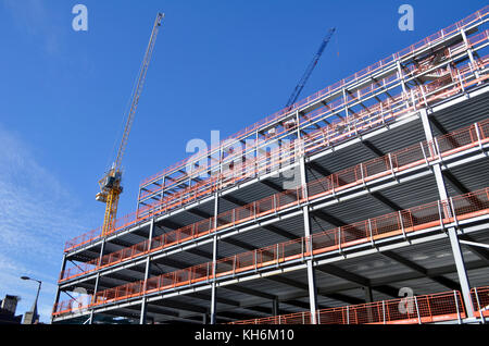
[[[438,243],[436,242],[430,245],[412,246],[412,247],[403,249],[402,252],[401,251],[397,251],[397,252],[399,252],[399,255],[403,255],[404,257],[408,257],[408,255],[410,255],[410,257],[409,257],[410,260],[415,262],[417,265],[422,265],[423,264],[422,260],[416,261],[416,258],[421,258],[427,250],[438,251],[439,248],[441,249],[441,248],[446,247],[447,244],[448,244],[448,239],[446,242],[438,242]],[[404,252],[406,252],[408,255]],[[472,262],[472,261],[473,261],[472,258],[469,258],[467,260],[467,262]],[[373,263],[373,264],[371,265],[371,269],[365,269],[365,268],[361,267],[364,263]],[[387,263],[389,263],[389,273],[388,274],[386,274],[385,265],[384,265]],[[343,271],[348,271],[353,274],[362,275],[363,277],[371,280],[373,283],[375,283],[376,280],[377,281],[378,280],[386,281],[386,277],[392,277],[393,280],[396,277],[399,279],[400,276],[402,277],[402,275],[409,274],[412,272],[410,270],[406,270],[404,267],[402,267],[400,264],[398,264],[398,265],[391,265],[391,264],[392,263],[389,260],[386,261],[381,255],[375,254],[375,255],[368,256],[368,258],[346,259],[344,261],[335,263],[335,267],[340,268]],[[447,259],[443,259],[439,264],[440,264],[440,267],[447,267],[448,264],[451,265],[453,263],[452,262],[448,263]],[[356,271],[355,271],[355,268],[356,268]],[[438,265],[432,267],[432,268],[437,269]],[[339,307],[339,306],[344,306],[344,305],[349,304],[347,301],[342,301],[342,300],[338,300],[338,299],[351,300],[350,304],[353,304],[353,301],[365,300],[365,292],[362,289],[362,287],[360,285],[353,285],[353,286],[356,286],[354,288],[346,288],[346,289],[338,291],[339,286],[349,284],[349,282],[343,279],[338,279],[333,275],[325,274],[325,273],[321,272],[319,269],[316,270],[317,287],[319,289],[319,295],[318,295],[319,306]],[[454,268],[452,269],[452,271],[454,271]],[[480,269],[475,269],[475,270],[471,269],[468,271],[471,281],[475,285],[485,284],[486,283],[485,277],[487,277],[488,274],[489,274],[489,270],[486,268],[480,268]],[[443,276],[447,279],[450,279],[450,280],[456,279],[455,274],[450,274],[450,273],[444,274]],[[240,283],[238,286],[241,288],[254,289],[260,293],[266,293],[272,296],[278,296],[283,299],[292,299],[296,301],[296,304],[297,304],[297,301],[301,301],[301,300],[303,302],[308,302],[305,299],[306,292],[304,292],[304,289],[301,289],[301,288],[298,288],[294,286],[294,285],[302,285],[302,286],[306,287],[305,271],[290,272],[290,273],[286,273],[286,274],[281,274],[281,275],[276,275],[274,277],[275,279],[280,277],[280,279],[278,280],[278,282],[274,281],[274,280],[269,280],[269,279],[258,279],[258,280]],[[284,282],[280,282],[280,281],[284,281]],[[288,281],[292,282],[292,285],[290,283],[287,283]],[[351,285],[351,283],[350,283],[350,285]],[[449,291],[447,287],[434,282],[431,279],[426,279],[426,277],[423,277],[422,275],[421,275],[421,277],[417,277],[414,280],[405,280],[405,281],[397,280],[396,282],[391,283],[390,285],[397,289],[399,289],[401,287],[410,287],[414,291],[415,294],[429,294],[429,293],[434,293],[434,292],[436,293],[436,292]],[[231,288],[233,286],[229,286],[229,287]],[[327,293],[328,287],[330,287],[331,292],[337,292],[339,295],[338,294],[336,294],[336,295],[328,294]],[[271,309],[272,302],[267,301],[266,299],[253,297],[248,294],[241,294],[241,293],[233,291],[233,289],[227,289],[226,286],[224,286],[222,288],[217,288],[217,289],[225,292],[225,294],[223,296],[225,297],[225,299],[228,299],[228,301],[239,302],[239,305],[240,306],[242,305],[243,307],[254,307],[254,308],[261,307],[262,309]],[[326,294],[322,294],[321,292],[323,292],[323,293],[326,292]],[[331,296],[336,297],[336,299],[331,298]],[[391,299],[392,297],[389,297],[387,295],[384,295],[384,294],[377,292],[374,287],[373,298],[374,298],[374,300],[379,300],[379,299],[381,300],[381,299]],[[253,304],[253,302],[255,302],[255,304]],[[155,302],[152,302],[151,306],[153,306]],[[196,313],[196,312],[187,311],[186,308],[180,308],[180,309],[172,308],[172,307],[177,307],[178,305],[181,305],[181,304],[190,305],[192,307],[196,307],[196,309],[198,309],[198,310],[209,308],[209,301],[206,301],[205,299],[202,299],[202,298],[200,298],[200,299],[193,298],[191,294],[181,296],[181,297],[162,299],[158,302],[159,306],[163,307],[167,311],[173,311],[173,312],[179,311],[178,316],[181,318],[188,318],[191,316],[197,318],[202,313],[202,312]],[[279,306],[280,306],[280,311],[284,313],[306,310],[306,309],[298,308],[297,306],[294,307],[293,304],[288,305],[287,301],[280,301]],[[250,308],[236,307],[233,305],[224,304],[222,301],[217,304],[217,307],[218,307],[218,311],[223,314],[226,314],[227,311],[234,311],[238,314],[254,313],[255,317],[266,316],[266,313],[264,313],[264,312],[258,312],[258,311],[253,312],[253,308],[250,309]],[[117,312],[120,312],[120,310],[117,310]],[[161,322],[166,321],[167,319],[174,318],[174,316],[159,314],[159,313],[154,313],[154,312],[151,312],[151,316],[153,318],[155,318],[156,321],[161,321]]]

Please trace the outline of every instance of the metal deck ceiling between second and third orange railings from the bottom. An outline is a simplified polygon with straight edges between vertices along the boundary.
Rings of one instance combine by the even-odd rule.
[[[474,163],[469,163],[467,165],[460,168],[459,170],[452,170],[452,174],[456,176],[457,180],[463,182],[464,186],[473,190],[485,187],[487,185],[487,178],[485,178],[480,174],[476,174],[476,171],[480,170],[480,168],[482,169],[487,168],[489,170],[489,162],[487,160],[482,160],[480,162],[477,161]],[[455,189],[450,188],[450,185],[448,186],[448,189],[451,195],[457,194]],[[394,185],[389,189],[383,190],[381,194],[384,197],[388,198],[390,201],[399,206],[401,209],[419,206],[422,203],[438,200],[439,198],[432,176],[418,178],[416,181],[412,181],[406,184]],[[359,212],[359,210],[361,210],[362,212]],[[380,203],[371,195],[365,195],[352,200],[347,200],[344,202],[330,206],[328,208],[324,208],[323,211],[326,211],[328,214],[333,214],[337,221],[341,221],[343,224],[350,224],[358,221],[366,220],[367,218],[374,218],[376,215],[390,213],[393,210],[388,206]],[[317,217],[315,213],[312,213],[311,225],[313,233],[330,230],[337,226],[337,224],[334,225],[325,221],[324,217],[323,218]],[[293,233],[294,235],[297,235],[297,238],[303,235],[302,215],[278,221],[274,223],[274,226]],[[235,242],[237,240],[238,244],[243,243],[246,245],[251,246],[252,248],[262,248],[268,245],[285,242],[287,240],[287,238],[276,235],[266,228],[255,228],[252,231],[248,231],[246,233],[235,235],[231,237],[231,240]],[[228,257],[248,250],[247,248],[235,246],[226,242],[220,243],[221,243],[218,247],[220,257]],[[159,260],[156,262],[161,263],[163,272],[170,272],[180,268],[205,263],[210,261],[210,259],[212,259],[211,244],[199,247],[199,250],[201,252],[206,252],[209,256],[202,257],[195,255],[192,252],[177,252],[168,257],[164,257],[162,260]],[[167,259],[175,262],[181,262],[184,263],[184,265],[180,265],[179,268],[164,265],[163,263],[167,262]],[[141,273],[143,272],[142,267],[139,270]],[[124,270],[122,272],[124,272]]]

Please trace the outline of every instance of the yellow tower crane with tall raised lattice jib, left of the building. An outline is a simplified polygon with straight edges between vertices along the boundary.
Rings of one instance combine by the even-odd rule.
[[[117,155],[111,168],[105,172],[103,177],[99,181],[100,193],[97,194],[96,199],[105,203],[105,214],[103,218],[102,236],[108,235],[115,226],[115,219],[117,215],[118,197],[123,191],[122,182],[122,159],[127,146],[130,128],[134,122],[134,115],[138,107],[139,97],[141,96],[142,86],[145,85],[146,74],[153,53],[154,44],[156,41],[158,32],[162,24],[164,14],[158,13],[154,21],[151,38],[146,49],[145,58],[137,77],[136,87],[133,90],[131,103],[127,113],[127,119],[124,126],[123,137],[117,149]]]

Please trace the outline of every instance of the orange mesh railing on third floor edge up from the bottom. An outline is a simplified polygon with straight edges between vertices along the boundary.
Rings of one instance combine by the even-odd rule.
[[[449,156],[482,146],[487,143],[489,143],[489,119],[460,128],[453,133],[435,137],[432,141],[422,141],[384,157],[344,169],[330,174],[329,176],[310,182],[306,184],[308,199],[314,200],[327,195],[337,194],[347,188],[360,186],[384,176],[399,174],[405,170],[424,165],[440,158],[444,159]],[[228,210],[217,215],[217,227],[214,227],[214,217],[192,223],[153,237],[151,239],[151,247],[149,246],[150,242],[145,240],[131,247],[103,256],[100,263],[98,263],[98,259],[96,259],[70,268],[61,273],[60,281],[84,275],[97,268],[113,265],[124,260],[151,251],[158,251],[176,244],[183,244],[229,226],[239,225],[273,212],[299,206],[304,201],[303,194],[304,189],[299,186],[296,189],[278,193],[243,207]],[[383,221],[377,220],[376,222],[381,223]],[[406,230],[409,230],[410,225],[410,220],[404,220],[404,227]],[[315,242],[319,240],[316,239]]]

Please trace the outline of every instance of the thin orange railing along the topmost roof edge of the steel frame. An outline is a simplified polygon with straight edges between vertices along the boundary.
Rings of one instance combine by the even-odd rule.
[[[297,109],[304,107],[305,104],[312,103],[319,98],[323,98],[327,95],[330,95],[333,92],[337,92],[337,91],[341,90],[342,87],[344,87],[346,85],[348,85],[350,83],[360,81],[363,77],[365,77],[366,75],[369,75],[374,72],[380,71],[381,69],[385,69],[386,66],[390,65],[391,63],[394,63],[397,60],[399,60],[401,58],[404,58],[411,53],[414,53],[417,50],[421,50],[430,45],[434,45],[437,41],[447,39],[448,37],[454,35],[454,34],[457,34],[460,29],[465,28],[468,25],[472,25],[478,21],[482,21],[488,15],[488,13],[489,13],[489,5],[486,5],[482,9],[480,9],[479,11],[459,21],[457,23],[452,24],[452,25],[448,26],[447,28],[437,32],[437,33],[432,34],[431,36],[426,37],[425,39],[423,39],[414,45],[411,45],[410,47],[399,51],[398,53],[393,53],[393,54],[387,57],[386,59],[383,59],[379,62],[377,62],[368,67],[365,67],[362,71],[351,75],[350,77],[343,78],[343,79],[335,83],[334,85],[326,87],[326,88],[309,96],[308,98],[296,102],[294,104],[292,104],[291,108],[283,109],[278,112],[267,116],[266,119],[263,119],[263,120],[256,122],[255,124],[248,126],[247,128],[238,132],[237,134],[234,134],[234,135],[229,136],[228,138],[224,139],[223,143],[227,141],[229,139],[239,139],[239,138],[254,132],[255,129],[258,129],[260,127],[263,127],[267,124],[275,122],[276,120],[278,120],[280,116],[283,116],[285,114],[294,112]],[[216,145],[215,147],[210,148],[210,150],[208,152],[205,152],[204,155],[202,155],[201,157],[208,157],[221,144]],[[198,160],[199,158],[200,157],[198,157],[196,159]],[[155,181],[155,180],[162,177],[163,175],[170,174],[172,172],[177,171],[178,169],[184,168],[186,165],[187,161],[188,161],[188,159],[185,159],[178,163],[173,164],[172,166],[163,170],[162,172],[156,173],[156,174],[143,180],[140,185],[148,184],[151,181]]]

